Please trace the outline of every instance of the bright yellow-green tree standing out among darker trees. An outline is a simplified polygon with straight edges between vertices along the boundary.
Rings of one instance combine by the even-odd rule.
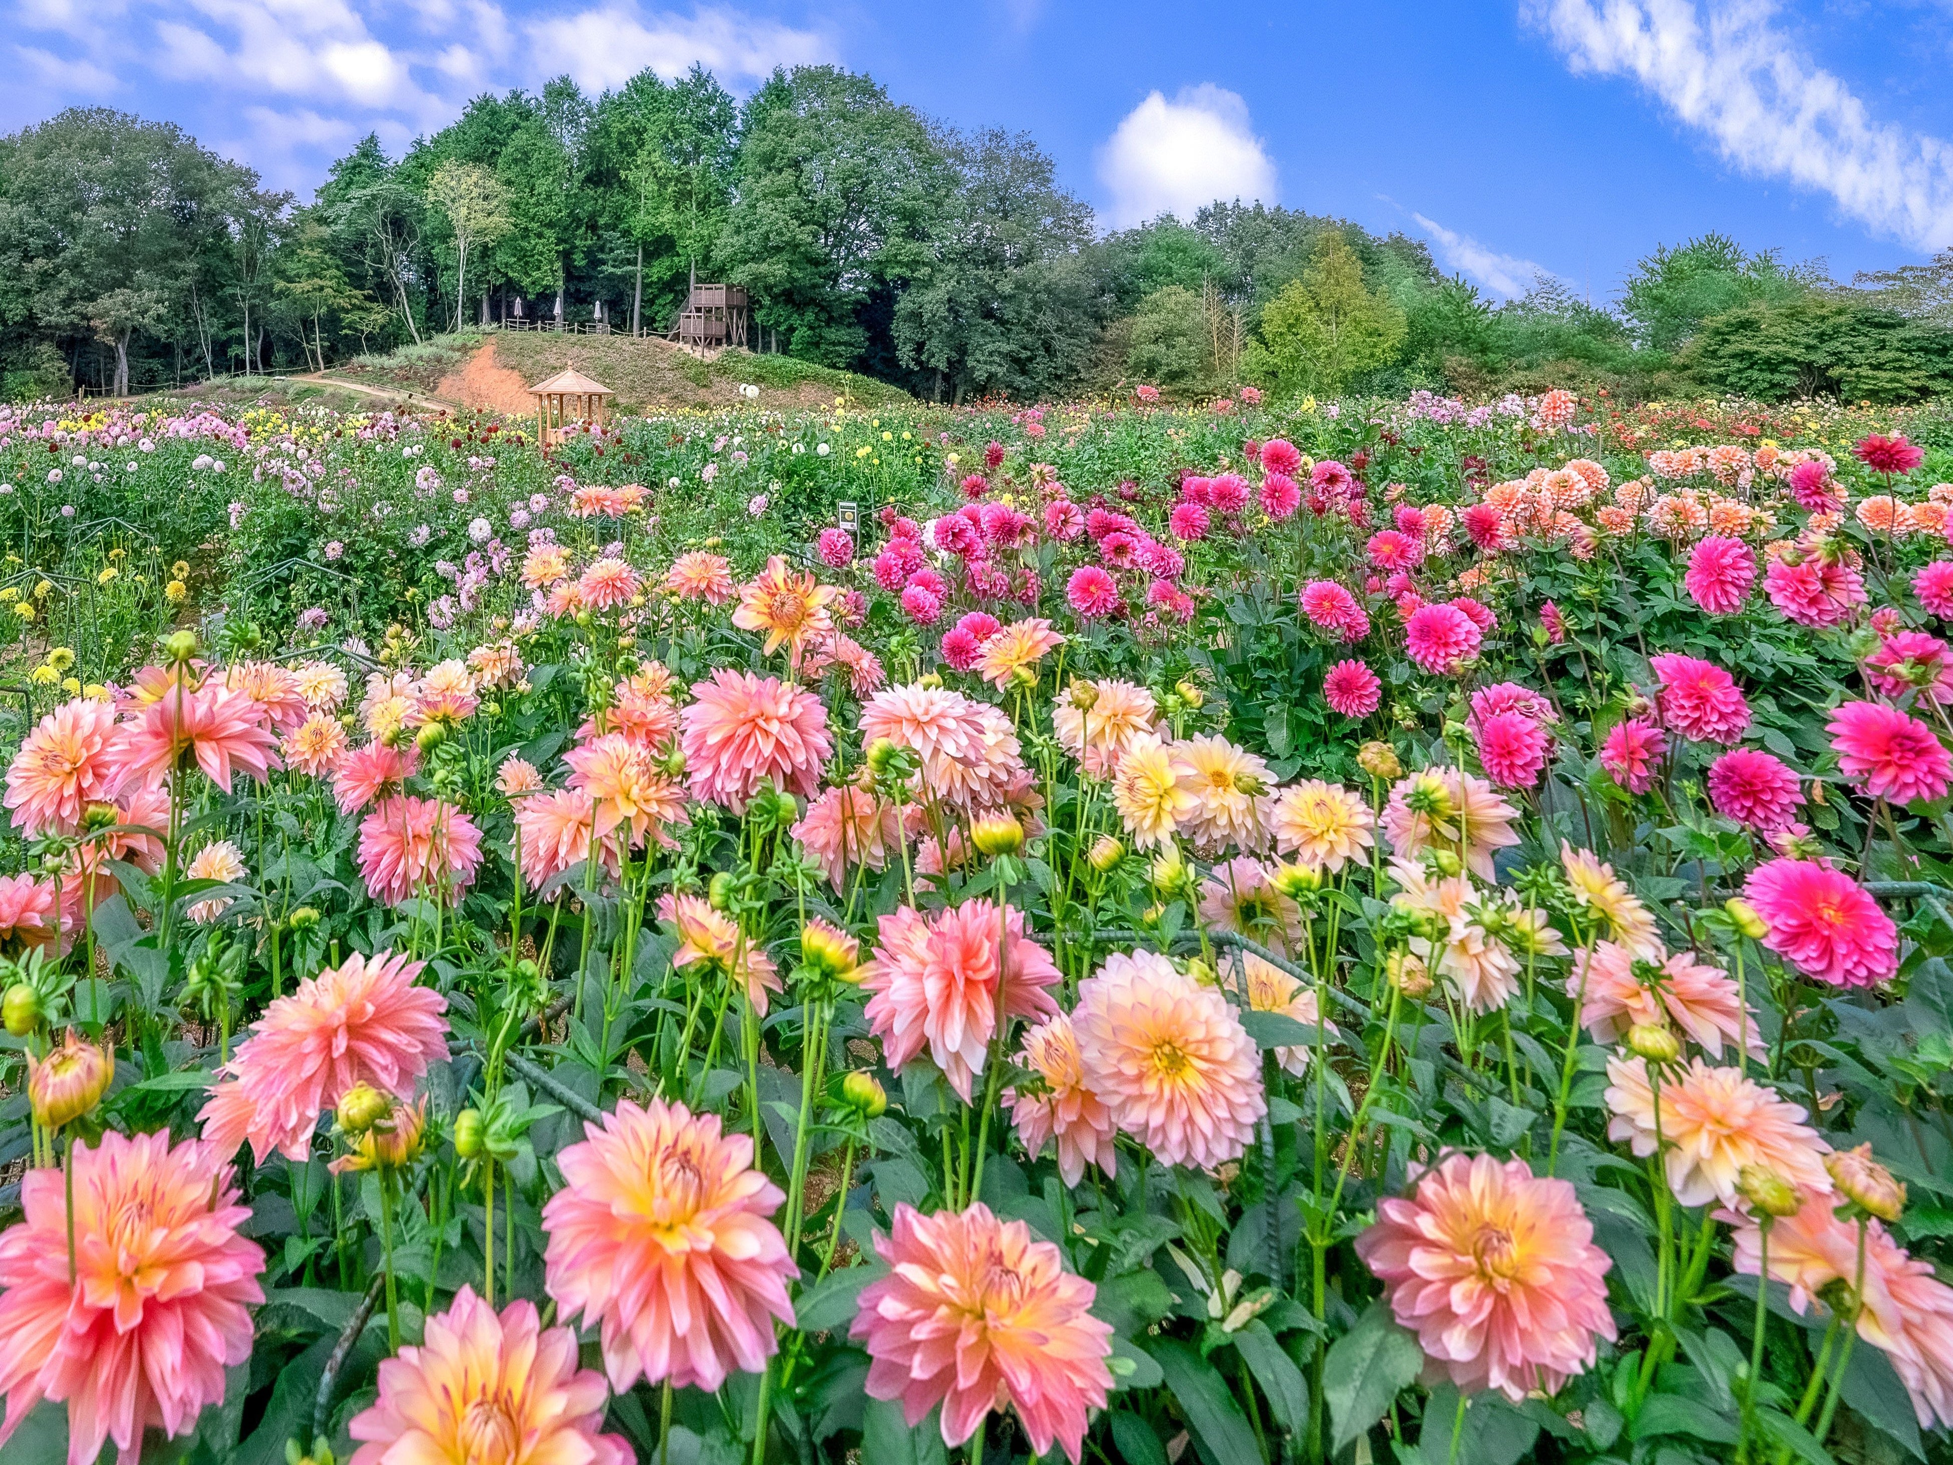
[[[1404,313],[1371,293],[1355,252],[1332,232],[1262,311],[1256,361],[1281,391],[1334,393],[1394,361],[1404,334]]]

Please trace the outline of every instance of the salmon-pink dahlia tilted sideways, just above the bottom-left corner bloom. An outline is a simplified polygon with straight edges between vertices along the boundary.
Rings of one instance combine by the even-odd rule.
[[[353,1084],[410,1098],[428,1065],[447,1057],[447,998],[414,984],[424,965],[355,951],[275,998],[197,1115],[203,1137],[223,1158],[250,1139],[260,1164],[271,1151],[303,1160],[318,1113]]]

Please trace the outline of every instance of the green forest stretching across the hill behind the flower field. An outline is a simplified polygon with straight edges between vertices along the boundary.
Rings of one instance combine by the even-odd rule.
[[[1953,252],[1836,281],[1707,232],[1590,299],[1494,301],[1408,234],[1215,199],[1100,232],[1035,139],[957,131],[834,66],[744,102],[707,70],[480,96],[312,197],[172,123],[0,139],[0,385],[123,395],[324,369],[484,322],[662,334],[744,285],[748,346],[930,400],[1570,385],[1615,398],[1916,400],[1953,383]]]

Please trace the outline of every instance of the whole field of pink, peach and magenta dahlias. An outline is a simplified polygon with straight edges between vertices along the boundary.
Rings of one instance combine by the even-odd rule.
[[[0,1461],[1953,1461],[1953,420],[0,416]]]

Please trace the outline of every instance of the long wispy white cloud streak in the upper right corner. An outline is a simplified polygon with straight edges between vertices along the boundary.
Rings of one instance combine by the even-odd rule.
[[[1629,76],[1744,172],[1828,193],[1918,248],[1953,244],[1953,146],[1879,121],[1771,0],[1525,0],[1576,72]]]

